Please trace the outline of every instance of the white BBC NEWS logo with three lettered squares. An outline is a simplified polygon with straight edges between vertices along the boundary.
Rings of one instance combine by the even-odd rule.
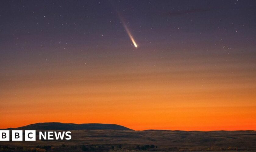
[[[25,130],[25,141],[36,141],[36,130]],[[70,131],[39,132],[39,140],[70,140]],[[0,141],[10,141],[10,130],[0,130]],[[23,141],[23,130],[12,130],[12,141]]]

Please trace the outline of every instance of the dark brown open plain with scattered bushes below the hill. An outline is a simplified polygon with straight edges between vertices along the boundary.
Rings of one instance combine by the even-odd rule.
[[[0,145],[2,151],[256,151],[256,131],[75,130],[71,140]]]

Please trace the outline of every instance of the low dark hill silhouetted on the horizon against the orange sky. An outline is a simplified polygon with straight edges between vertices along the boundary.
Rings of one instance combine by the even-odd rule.
[[[130,128],[116,124],[102,123],[35,123],[18,128],[8,128],[9,130],[132,130]]]

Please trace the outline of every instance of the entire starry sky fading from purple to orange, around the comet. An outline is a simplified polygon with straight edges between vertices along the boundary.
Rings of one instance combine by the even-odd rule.
[[[0,128],[256,130],[255,42],[253,0],[1,1]]]

